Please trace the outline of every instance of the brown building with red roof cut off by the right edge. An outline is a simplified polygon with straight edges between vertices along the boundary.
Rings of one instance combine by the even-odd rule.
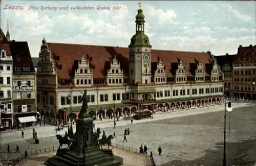
[[[233,97],[256,100],[256,45],[239,45],[233,61]]]

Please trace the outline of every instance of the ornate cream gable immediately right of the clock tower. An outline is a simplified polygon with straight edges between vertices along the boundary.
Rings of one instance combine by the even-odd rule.
[[[156,84],[166,83],[166,69],[161,58],[158,58],[153,79]]]

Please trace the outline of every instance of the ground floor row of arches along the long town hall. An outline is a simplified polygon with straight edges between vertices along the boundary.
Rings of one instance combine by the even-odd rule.
[[[223,96],[219,97],[208,97],[208,98],[198,98],[198,99],[189,99],[189,100],[177,100],[177,101],[157,101],[156,103],[150,105],[127,105],[121,107],[112,107],[112,108],[98,108],[90,109],[89,114],[91,117],[95,117],[96,120],[101,120],[102,118],[123,118],[125,116],[131,116],[135,111],[141,107],[152,110],[154,113],[161,111],[171,111],[179,110],[193,107],[204,107],[208,105],[215,105],[224,102]],[[69,124],[76,120],[79,115],[79,110],[67,110],[59,109],[56,112],[55,124]],[[54,115],[52,115],[54,116]]]

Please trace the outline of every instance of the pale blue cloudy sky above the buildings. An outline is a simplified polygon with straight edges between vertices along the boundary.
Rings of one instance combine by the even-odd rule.
[[[43,37],[47,42],[127,47],[135,34],[138,3],[152,49],[225,55],[236,54],[239,45],[256,44],[253,1],[1,0],[0,27],[6,33],[9,21],[11,39],[28,41],[32,57],[38,57]]]

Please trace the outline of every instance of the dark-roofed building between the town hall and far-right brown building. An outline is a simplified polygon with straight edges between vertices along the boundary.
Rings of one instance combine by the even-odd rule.
[[[224,75],[224,96],[232,98],[232,76],[233,76],[233,59],[235,55],[215,56]]]

